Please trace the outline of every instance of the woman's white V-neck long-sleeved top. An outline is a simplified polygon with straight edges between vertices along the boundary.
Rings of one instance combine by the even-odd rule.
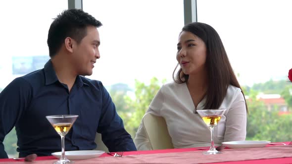
[[[205,101],[206,97],[199,102],[196,109],[203,109]],[[226,111],[214,127],[214,145],[245,140],[246,108],[241,89],[229,85],[219,109]],[[146,113],[165,119],[174,148],[210,146],[210,129],[194,111],[195,105],[187,84],[171,82],[159,89]],[[138,128],[134,142],[138,150],[152,149],[143,122]]]

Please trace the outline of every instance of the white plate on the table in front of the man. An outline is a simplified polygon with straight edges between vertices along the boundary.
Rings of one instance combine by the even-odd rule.
[[[100,150],[77,150],[77,151],[65,151],[65,156],[68,160],[85,160],[90,158],[97,158],[102,155],[104,151]],[[52,153],[56,158],[61,157],[62,152]]]

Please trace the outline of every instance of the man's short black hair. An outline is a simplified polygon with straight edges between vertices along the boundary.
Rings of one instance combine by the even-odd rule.
[[[49,27],[49,56],[60,50],[65,38],[70,37],[80,43],[87,35],[87,26],[100,27],[102,24],[92,15],[81,9],[68,9],[59,14]]]

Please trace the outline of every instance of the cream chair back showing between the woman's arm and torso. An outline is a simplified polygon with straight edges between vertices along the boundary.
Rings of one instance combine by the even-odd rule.
[[[142,121],[153,150],[174,148],[163,117],[147,113]]]

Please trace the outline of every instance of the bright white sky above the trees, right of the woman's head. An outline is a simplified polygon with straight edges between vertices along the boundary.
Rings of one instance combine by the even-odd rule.
[[[197,19],[220,35],[240,82],[287,79],[292,67],[292,1],[197,0]]]

